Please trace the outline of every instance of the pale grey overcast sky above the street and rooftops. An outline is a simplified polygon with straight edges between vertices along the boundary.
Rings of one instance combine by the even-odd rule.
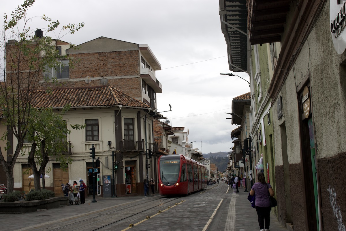
[[[10,15],[23,2],[1,1],[0,12]],[[76,45],[100,36],[148,44],[162,68],[156,71],[163,91],[157,94],[158,112],[171,104],[172,111],[162,114],[171,126],[189,129],[193,148],[230,151],[237,127],[225,112],[231,113],[234,97],[250,89],[238,77],[219,74],[230,71],[218,0],[36,0],[28,10],[29,17],[44,14],[61,24],[84,22],[82,30],[62,38]],[[47,27],[39,17],[31,23],[32,30]]]

